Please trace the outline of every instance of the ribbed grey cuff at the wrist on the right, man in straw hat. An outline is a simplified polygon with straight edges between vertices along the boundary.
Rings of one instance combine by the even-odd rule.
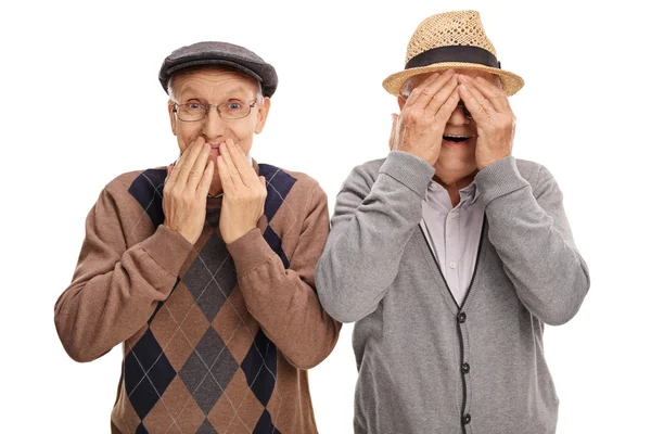
[[[513,156],[498,159],[484,167],[475,176],[475,182],[482,193],[481,197],[484,205],[488,205],[497,197],[529,186],[526,179],[520,176]]]

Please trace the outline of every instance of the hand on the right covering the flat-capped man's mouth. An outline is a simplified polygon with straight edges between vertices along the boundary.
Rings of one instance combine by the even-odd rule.
[[[267,188],[265,177],[258,177],[242,149],[228,139],[219,146],[217,167],[224,202],[219,231],[226,244],[256,228],[265,210]]]

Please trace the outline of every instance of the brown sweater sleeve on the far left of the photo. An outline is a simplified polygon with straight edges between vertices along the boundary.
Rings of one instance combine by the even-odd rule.
[[[72,283],[54,306],[59,337],[76,361],[97,359],[141,329],[192,250],[163,225],[128,246],[126,221],[139,221],[142,209],[117,187],[106,186],[88,214]]]

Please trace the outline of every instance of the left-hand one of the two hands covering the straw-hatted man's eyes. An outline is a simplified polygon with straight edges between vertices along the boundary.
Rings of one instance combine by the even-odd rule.
[[[404,151],[434,166],[441,153],[445,126],[459,103],[458,74],[434,73],[418,86],[400,111],[393,114],[392,151]]]

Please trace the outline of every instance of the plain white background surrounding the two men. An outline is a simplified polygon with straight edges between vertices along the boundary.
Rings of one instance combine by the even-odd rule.
[[[556,176],[591,271],[582,310],[545,336],[558,432],[650,432],[651,111],[648,69],[636,59],[649,52],[648,22],[634,2],[577,3],[3,3],[0,432],[108,432],[120,352],[74,362],[53,306],[101,189],[176,158],[157,81],[171,50],[227,40],[276,66],[280,86],[252,154],[319,180],[332,213],[350,169],[387,152],[397,104],[381,82],[401,69],[412,31],[429,15],[469,8],[481,12],[502,67],[526,81],[511,99],[514,155]],[[125,102],[142,115],[127,116]],[[321,433],[353,432],[352,330],[309,374]]]

